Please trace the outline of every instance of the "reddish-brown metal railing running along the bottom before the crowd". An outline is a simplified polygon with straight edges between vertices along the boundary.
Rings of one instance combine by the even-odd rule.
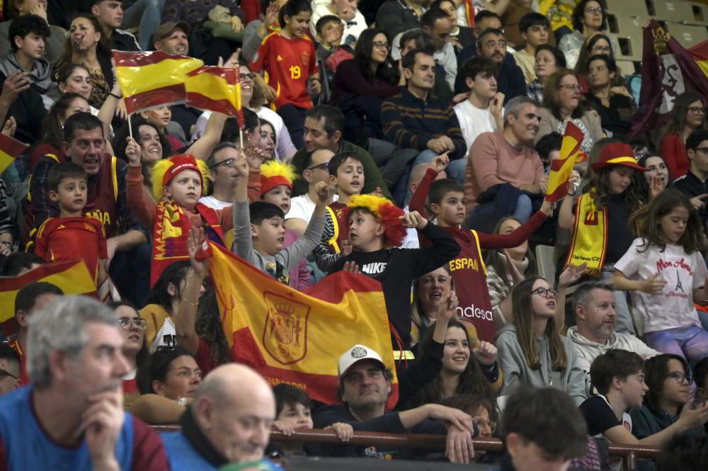
[[[180,429],[176,425],[154,426],[153,428],[156,431],[178,431]],[[341,443],[334,431],[319,429],[295,431],[291,436],[285,436],[279,431],[272,431],[270,432],[270,440],[274,442]],[[474,442],[475,450],[502,451],[504,449],[503,443],[498,438],[473,438],[472,441]],[[422,433],[355,432],[348,444],[444,450],[445,436],[424,435]],[[639,458],[656,458],[660,451],[659,448],[651,446],[612,444],[610,444],[609,450],[610,456],[622,458],[624,463],[622,469],[628,471],[637,469],[637,460]]]

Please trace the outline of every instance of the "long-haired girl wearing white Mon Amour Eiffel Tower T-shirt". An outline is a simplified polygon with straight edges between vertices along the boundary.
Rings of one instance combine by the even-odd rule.
[[[693,303],[704,302],[708,270],[698,212],[680,191],[668,188],[636,211],[627,253],[615,263],[617,290],[632,291],[637,331],[646,344],[690,362],[708,356],[708,332]]]

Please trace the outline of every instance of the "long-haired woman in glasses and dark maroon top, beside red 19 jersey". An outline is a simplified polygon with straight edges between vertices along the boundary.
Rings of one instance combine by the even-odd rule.
[[[334,74],[330,103],[346,117],[344,139],[355,144],[382,138],[381,104],[406,81],[391,58],[391,42],[381,28],[364,30],[354,59],[342,61]]]

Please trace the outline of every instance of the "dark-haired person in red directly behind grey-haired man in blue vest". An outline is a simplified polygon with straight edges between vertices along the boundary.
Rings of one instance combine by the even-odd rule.
[[[29,382],[26,365],[29,316],[34,310],[41,309],[55,301],[57,296],[63,295],[64,292],[59,287],[43,281],[28,283],[17,292],[15,297],[15,320],[19,329],[17,334],[10,336],[7,345],[13,348],[20,357],[21,375],[19,378],[22,385],[26,385]]]

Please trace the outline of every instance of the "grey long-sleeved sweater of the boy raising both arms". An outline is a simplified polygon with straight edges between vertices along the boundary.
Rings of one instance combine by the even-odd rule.
[[[324,229],[324,217],[315,217],[313,215],[302,237],[274,256],[263,254],[253,249],[251,214],[248,201],[240,201],[234,204],[234,228],[236,229],[236,241],[234,242],[236,254],[241,259],[249,261],[251,265],[259,270],[265,271],[268,275],[287,285],[287,272],[295,268],[297,263],[319,244]]]

